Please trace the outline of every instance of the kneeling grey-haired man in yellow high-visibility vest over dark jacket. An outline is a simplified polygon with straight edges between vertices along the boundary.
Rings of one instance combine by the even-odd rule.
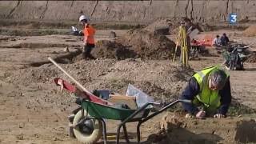
[[[192,101],[182,106],[196,118],[225,118],[231,102],[230,77],[218,66],[207,67],[190,78],[181,99]]]

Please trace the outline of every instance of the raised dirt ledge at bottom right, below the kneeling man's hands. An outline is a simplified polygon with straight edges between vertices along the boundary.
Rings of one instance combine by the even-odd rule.
[[[160,122],[158,133],[149,138],[157,143],[254,143],[255,124],[250,118],[198,120],[167,113]]]

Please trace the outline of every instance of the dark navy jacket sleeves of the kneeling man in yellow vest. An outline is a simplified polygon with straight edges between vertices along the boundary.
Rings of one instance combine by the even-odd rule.
[[[190,78],[190,82],[186,86],[185,90],[182,92],[181,99],[193,100],[196,95],[200,92],[199,84],[197,80],[192,77]],[[218,108],[218,114],[226,115],[227,110],[229,109],[231,102],[231,92],[230,92],[230,78],[228,78],[226,85],[222,88],[222,90],[218,90],[218,94],[221,97],[221,106]],[[194,106],[192,103],[182,103],[182,106],[186,111],[190,114],[194,114],[198,111],[198,107]]]

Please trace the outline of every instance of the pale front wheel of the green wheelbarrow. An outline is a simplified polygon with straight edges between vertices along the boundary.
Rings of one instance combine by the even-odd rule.
[[[86,115],[86,110],[84,110],[84,115]],[[73,126],[77,125],[81,119],[82,110],[78,111],[78,113],[75,114]],[[102,136],[102,122],[97,119],[90,118],[84,123],[85,124],[83,126],[74,127],[75,137],[78,138],[79,142],[82,142],[84,144],[91,144],[97,142],[98,139]]]

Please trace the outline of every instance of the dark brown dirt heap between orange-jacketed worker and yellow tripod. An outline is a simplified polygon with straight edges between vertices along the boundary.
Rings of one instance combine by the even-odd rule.
[[[95,58],[170,59],[174,47],[174,42],[166,36],[138,29],[130,30],[116,41],[98,41],[92,54]]]

